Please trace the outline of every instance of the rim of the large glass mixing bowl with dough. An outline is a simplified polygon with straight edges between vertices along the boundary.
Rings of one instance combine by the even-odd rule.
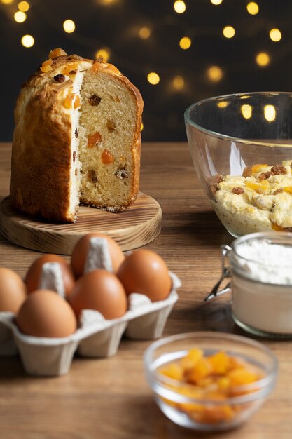
[[[260,140],[249,140],[249,139],[243,139],[242,137],[232,137],[230,135],[226,135],[223,133],[217,133],[216,131],[212,131],[212,130],[208,130],[207,128],[203,128],[202,126],[200,126],[199,124],[195,123],[194,121],[192,121],[190,119],[190,110],[203,104],[206,102],[214,102],[216,100],[221,100],[221,99],[225,99],[228,100],[232,97],[239,97],[239,96],[245,96],[245,95],[291,95],[292,97],[292,92],[288,92],[288,91],[253,91],[253,92],[246,92],[246,93],[230,93],[228,95],[218,95],[218,96],[214,96],[214,97],[207,97],[206,99],[202,99],[199,100],[197,102],[194,102],[193,104],[190,104],[190,106],[186,109],[186,111],[184,112],[184,119],[185,122],[188,123],[188,125],[190,125],[193,128],[196,128],[197,130],[201,131],[204,134],[210,135],[212,137],[217,137],[219,139],[223,139],[223,140],[229,140],[230,142],[241,142],[243,144],[250,144],[250,145],[257,145],[260,147],[285,147],[285,148],[291,148],[292,144],[285,144],[285,143],[274,143],[274,142],[264,142],[264,141],[260,141]]]

